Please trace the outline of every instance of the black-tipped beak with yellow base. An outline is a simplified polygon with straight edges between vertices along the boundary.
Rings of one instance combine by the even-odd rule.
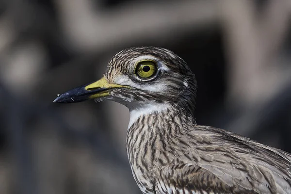
[[[114,88],[130,88],[130,87],[118,84],[110,84],[106,81],[104,77],[102,77],[100,80],[96,82],[82,85],[80,87],[69,90],[61,95],[58,94],[53,102],[74,103],[97,97],[107,97],[109,96],[109,92]]]

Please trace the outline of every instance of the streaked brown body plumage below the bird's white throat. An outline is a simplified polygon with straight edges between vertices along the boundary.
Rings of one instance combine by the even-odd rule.
[[[141,124],[151,120],[156,121],[152,126]],[[230,135],[227,131],[198,125],[187,127],[179,124],[181,120],[163,122],[162,115],[152,114],[140,118],[128,130],[129,161],[140,187],[152,191],[157,184],[157,179],[152,179],[155,177],[177,185],[177,189],[187,185],[188,192],[196,193],[219,190],[225,194],[283,194],[288,189],[290,192],[290,163],[277,151],[238,135],[232,137],[237,139],[234,144],[232,139],[223,140],[226,137],[222,132]],[[165,127],[176,130],[159,130]],[[266,155],[272,157],[265,158]],[[184,169],[173,170],[172,165],[182,165]],[[192,170],[197,168],[199,173],[193,174]],[[179,176],[175,177],[175,173]]]

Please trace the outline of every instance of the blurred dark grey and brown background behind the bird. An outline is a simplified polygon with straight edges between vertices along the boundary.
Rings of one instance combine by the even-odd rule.
[[[291,152],[290,0],[0,0],[0,194],[141,194],[127,108],[52,103],[132,46],[188,63],[198,124]]]

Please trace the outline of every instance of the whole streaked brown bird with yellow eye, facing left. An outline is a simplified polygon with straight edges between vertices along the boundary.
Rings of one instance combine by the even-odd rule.
[[[128,107],[126,150],[144,194],[291,194],[291,154],[195,120],[197,82],[169,49],[117,52],[103,77],[54,102]]]

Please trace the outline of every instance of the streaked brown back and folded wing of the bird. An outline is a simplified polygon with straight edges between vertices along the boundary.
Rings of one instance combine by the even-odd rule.
[[[158,194],[291,194],[288,153],[222,129],[192,131],[172,142],[178,159],[161,169]]]

